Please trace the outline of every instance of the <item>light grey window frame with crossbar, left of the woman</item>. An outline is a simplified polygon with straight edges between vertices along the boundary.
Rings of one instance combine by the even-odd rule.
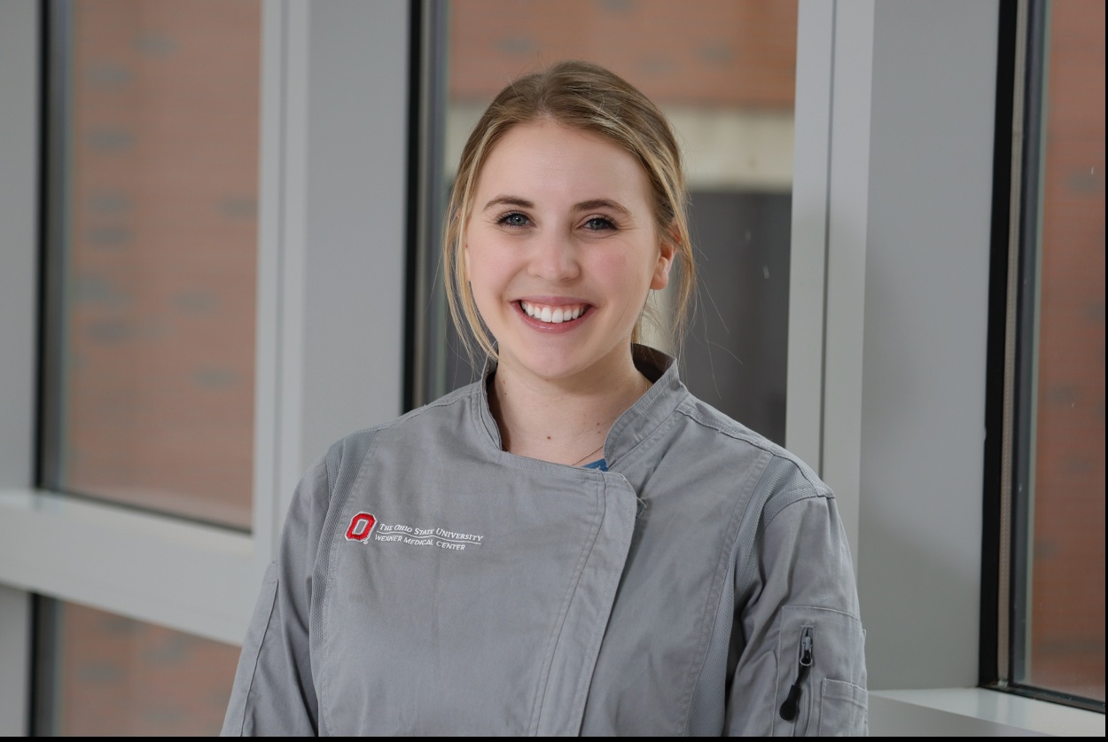
[[[29,729],[30,594],[239,643],[304,471],[340,435],[396,416],[403,375],[402,328],[359,318],[403,313],[409,3],[263,0],[252,532],[34,486],[42,225],[40,193],[18,186],[41,181],[42,10],[0,9],[0,87],[25,104],[3,107],[0,137],[23,169],[0,190],[4,308],[18,302],[0,322],[12,369],[0,385],[0,655],[21,658],[0,667],[12,689],[0,718],[16,734]]]

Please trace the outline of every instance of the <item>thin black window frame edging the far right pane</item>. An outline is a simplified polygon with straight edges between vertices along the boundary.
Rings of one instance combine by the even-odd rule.
[[[993,378],[1002,381],[1003,399],[992,410],[991,426],[1001,431],[1002,450],[995,455],[997,471],[993,484],[997,494],[987,514],[994,518],[996,567],[986,573],[988,586],[998,596],[995,620],[983,621],[982,641],[992,640],[995,650],[982,661],[982,683],[989,688],[1065,703],[1099,713],[1105,702],[1066,691],[1018,680],[1025,674],[1032,651],[1033,550],[1035,533],[1035,458],[1038,405],[1038,363],[1042,337],[1042,257],[1044,228],[1044,177],[1047,152],[1048,66],[1050,63],[1050,13],[1053,0],[1019,0],[1003,12],[1002,34],[1010,33],[1010,105],[1008,120],[997,117],[997,138],[1008,146],[1009,163],[1003,176],[1005,198],[995,204],[994,223],[1004,229],[994,248],[997,280],[991,285],[991,303],[1003,307],[1003,321],[995,319],[992,332],[997,342],[991,358]],[[1002,64],[1005,62],[1002,58]],[[1003,128],[1002,128],[1003,127]],[[998,169],[999,148],[997,150]],[[998,196],[999,196],[998,184]],[[999,275],[1004,281],[1001,282]],[[992,350],[992,349],[991,349]],[[987,501],[988,502],[988,501]],[[988,591],[988,590],[986,590]],[[996,627],[995,629],[993,627]],[[983,647],[984,649],[984,647]],[[992,663],[986,663],[992,660]]]

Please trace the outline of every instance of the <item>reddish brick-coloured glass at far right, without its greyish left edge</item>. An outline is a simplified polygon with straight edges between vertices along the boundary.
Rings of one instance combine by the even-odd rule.
[[[1105,700],[1105,7],[1049,6],[1028,656],[1016,680]],[[1016,667],[1019,667],[1017,661]]]

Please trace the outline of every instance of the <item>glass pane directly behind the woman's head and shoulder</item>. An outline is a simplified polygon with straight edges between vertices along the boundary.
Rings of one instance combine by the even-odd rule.
[[[701,279],[685,382],[783,443],[797,3],[465,0],[449,14],[448,183],[500,89],[557,60],[603,64],[665,110]],[[448,388],[471,380],[456,353],[447,361]]]

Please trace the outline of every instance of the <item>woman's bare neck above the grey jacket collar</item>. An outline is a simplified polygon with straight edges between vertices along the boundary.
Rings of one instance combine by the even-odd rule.
[[[504,450],[571,466],[602,458],[613,423],[650,388],[629,352],[626,361],[614,373],[572,384],[500,367],[489,404]]]

